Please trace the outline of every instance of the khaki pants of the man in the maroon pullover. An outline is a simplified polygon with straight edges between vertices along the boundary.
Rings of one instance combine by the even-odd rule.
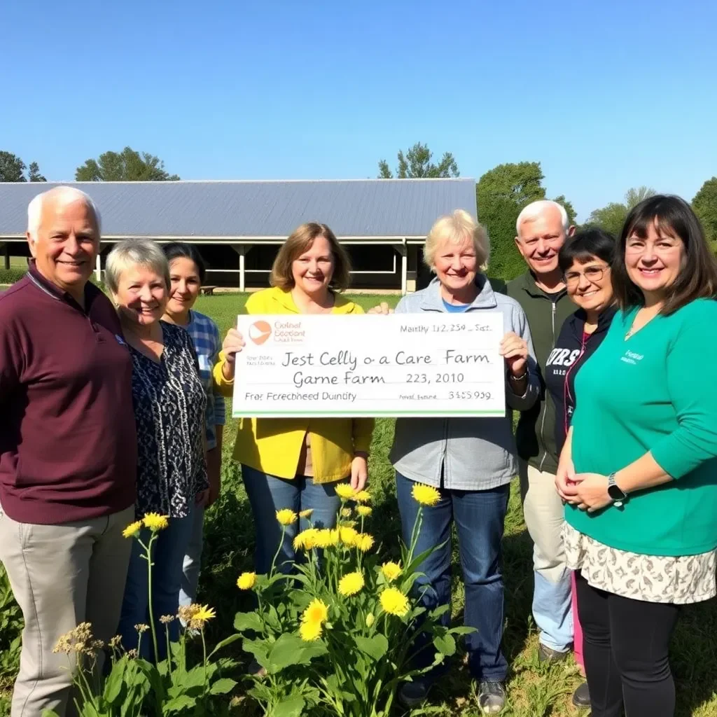
[[[39,525],[0,510],[0,561],[25,620],[11,717],[75,713],[68,705],[74,661],[52,649],[80,622],[90,622],[105,643],[115,635],[132,547],[122,531],[133,519],[130,507],[86,522]]]

